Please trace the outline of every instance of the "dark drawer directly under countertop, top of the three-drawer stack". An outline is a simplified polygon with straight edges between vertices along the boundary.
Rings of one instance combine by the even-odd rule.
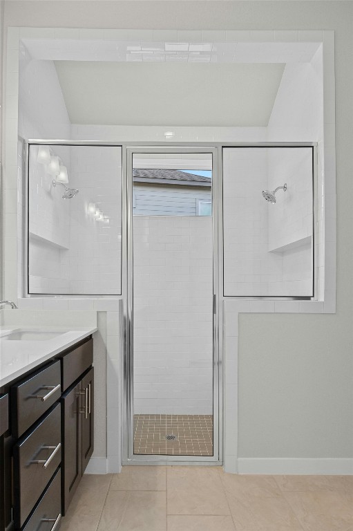
[[[22,434],[60,398],[60,362],[46,365],[11,387],[12,435]]]

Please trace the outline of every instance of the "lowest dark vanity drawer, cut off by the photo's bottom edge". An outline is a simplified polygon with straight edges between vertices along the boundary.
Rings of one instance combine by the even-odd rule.
[[[59,531],[61,521],[61,472],[55,474],[22,531]]]

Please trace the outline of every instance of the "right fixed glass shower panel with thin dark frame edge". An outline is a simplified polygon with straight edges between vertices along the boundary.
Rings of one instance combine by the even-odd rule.
[[[223,149],[224,295],[313,296],[312,147]]]

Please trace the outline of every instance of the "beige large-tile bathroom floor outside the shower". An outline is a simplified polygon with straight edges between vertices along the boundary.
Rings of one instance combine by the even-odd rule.
[[[61,531],[353,531],[353,476],[123,467],[84,476]]]

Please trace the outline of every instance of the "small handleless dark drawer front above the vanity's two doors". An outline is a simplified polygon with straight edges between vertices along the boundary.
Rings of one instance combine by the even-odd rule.
[[[93,364],[93,339],[88,339],[88,341],[64,355],[61,363],[62,390],[66,391]]]

